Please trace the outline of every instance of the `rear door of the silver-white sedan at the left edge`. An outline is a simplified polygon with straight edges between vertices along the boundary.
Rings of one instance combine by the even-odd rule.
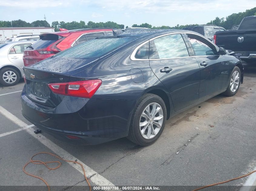
[[[23,67],[24,62],[23,62],[22,56],[23,56],[24,50],[31,45],[32,43],[20,43],[20,44],[13,45],[8,52],[8,59],[18,67]]]

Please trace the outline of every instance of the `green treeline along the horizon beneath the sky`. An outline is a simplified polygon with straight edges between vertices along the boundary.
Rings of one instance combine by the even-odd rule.
[[[214,20],[208,22],[207,24],[215,24],[220,27],[224,27],[225,29],[231,29],[233,25],[238,25],[242,21],[244,17],[253,16],[256,15],[256,7],[252,9],[248,9],[244,12],[240,13],[233,13],[229,15],[226,18],[219,18],[216,17]],[[179,25],[177,24],[175,27],[170,26],[158,26],[155,27],[148,23],[142,23],[140,25],[133,24],[132,27],[145,27],[145,28],[151,28],[151,29],[181,29],[188,26],[193,26],[197,24],[187,24],[187,25]],[[60,28],[65,28],[68,30],[73,29],[81,29],[81,28],[117,28],[117,29],[123,29],[125,25],[123,24],[117,24],[112,21],[108,22],[99,22],[95,23],[92,21],[89,21],[87,24],[85,24],[85,21],[72,21],[72,22],[64,22],[64,21],[53,21],[52,25],[50,25],[47,21],[34,21],[32,23],[28,23],[26,21],[22,20],[15,20],[15,21],[0,21],[0,27],[53,27],[55,31],[59,31]],[[128,26],[126,26],[127,28]]]

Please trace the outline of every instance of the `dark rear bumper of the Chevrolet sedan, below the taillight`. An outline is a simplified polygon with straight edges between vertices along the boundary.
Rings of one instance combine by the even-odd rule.
[[[49,108],[28,99],[25,91],[22,91],[21,103],[23,116],[36,127],[63,141],[87,145],[128,136],[135,105],[131,100],[67,96],[57,107]],[[81,139],[70,139],[67,135]]]

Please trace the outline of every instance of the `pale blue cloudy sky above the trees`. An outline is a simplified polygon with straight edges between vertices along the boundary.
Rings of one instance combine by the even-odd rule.
[[[205,24],[256,7],[255,0],[2,0],[0,20],[114,21],[131,27]]]

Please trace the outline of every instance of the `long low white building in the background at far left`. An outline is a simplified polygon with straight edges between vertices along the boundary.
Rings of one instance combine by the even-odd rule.
[[[0,41],[21,35],[39,35],[54,32],[52,27],[0,27]]]

